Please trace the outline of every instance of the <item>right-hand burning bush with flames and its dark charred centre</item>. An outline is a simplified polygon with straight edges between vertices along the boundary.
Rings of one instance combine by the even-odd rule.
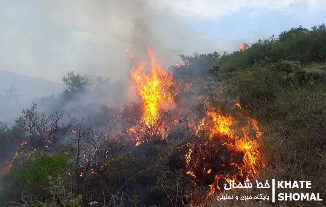
[[[203,138],[198,143],[188,143],[185,154],[187,174],[197,182],[208,184],[210,192],[224,190],[224,182],[235,183],[253,179],[265,167],[258,139],[262,136],[256,120],[239,115],[239,120],[230,114],[204,102],[206,117],[195,126],[195,134]],[[240,104],[237,104],[241,107]],[[244,122],[244,123],[242,123]],[[245,124],[244,127],[240,125]],[[236,130],[239,128],[240,130]],[[255,136],[250,134],[255,131]],[[205,170],[209,169],[209,170]]]

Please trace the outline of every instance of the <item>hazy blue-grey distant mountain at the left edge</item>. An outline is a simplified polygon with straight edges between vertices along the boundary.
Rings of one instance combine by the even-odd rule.
[[[0,70],[0,121],[12,124],[32,101],[62,90],[59,83]]]

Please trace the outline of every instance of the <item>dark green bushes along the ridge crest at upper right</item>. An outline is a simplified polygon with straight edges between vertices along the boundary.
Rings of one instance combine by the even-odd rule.
[[[257,61],[277,62],[279,60],[302,63],[325,61],[326,28],[324,24],[308,30],[303,27],[282,32],[278,38],[260,39],[243,51],[224,53],[218,63],[223,71],[235,71]]]

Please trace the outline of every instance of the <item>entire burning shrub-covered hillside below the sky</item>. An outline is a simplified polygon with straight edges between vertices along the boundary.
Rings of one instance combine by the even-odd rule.
[[[312,188],[276,193],[325,199],[325,48],[322,24],[292,28],[230,54],[180,55],[183,62],[169,68],[173,73],[151,48],[151,62],[132,53],[128,89],[70,72],[62,95],[45,102],[56,100],[65,111],[44,114],[32,104],[12,127],[0,124],[3,160],[13,157],[0,198],[24,207],[324,206],[217,196],[228,190],[226,180],[276,179],[312,182]],[[116,93],[117,100],[132,95],[109,104],[108,95]],[[228,193],[271,198],[271,191]]]

